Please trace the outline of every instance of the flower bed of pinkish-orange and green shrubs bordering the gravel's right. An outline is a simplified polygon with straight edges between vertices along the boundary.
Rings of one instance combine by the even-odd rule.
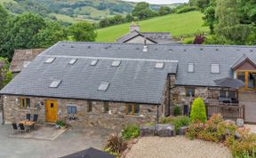
[[[238,128],[235,122],[224,121],[221,115],[212,115],[207,122],[191,123],[186,136],[223,143],[234,157],[256,157],[256,135],[248,129]]]

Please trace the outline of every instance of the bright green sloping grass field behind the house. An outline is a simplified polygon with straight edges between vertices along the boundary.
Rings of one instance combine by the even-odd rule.
[[[150,20],[141,20],[139,21],[140,30],[144,32],[171,32],[172,36],[176,38],[180,36],[191,38],[199,31],[209,32],[209,28],[203,26],[202,16],[203,14],[200,12],[186,12],[165,15]],[[118,37],[129,33],[129,26],[130,23],[125,23],[98,29],[96,41],[113,43]]]

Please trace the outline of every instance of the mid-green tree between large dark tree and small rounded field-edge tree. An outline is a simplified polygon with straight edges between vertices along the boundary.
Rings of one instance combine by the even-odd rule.
[[[36,47],[48,48],[54,43],[68,39],[67,31],[60,26],[57,22],[46,22],[46,27],[41,29],[36,35],[38,42]]]

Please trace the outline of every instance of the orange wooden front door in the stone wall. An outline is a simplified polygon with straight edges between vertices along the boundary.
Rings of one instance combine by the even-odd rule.
[[[46,122],[57,122],[57,100],[46,100],[45,120]]]

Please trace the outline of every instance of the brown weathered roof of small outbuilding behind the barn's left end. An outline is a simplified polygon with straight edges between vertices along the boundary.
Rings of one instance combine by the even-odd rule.
[[[10,65],[10,71],[12,73],[20,72],[42,51],[44,51],[44,49],[15,50]]]

